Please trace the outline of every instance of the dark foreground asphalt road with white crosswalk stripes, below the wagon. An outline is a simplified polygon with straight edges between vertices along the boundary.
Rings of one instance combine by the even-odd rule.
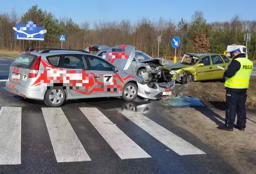
[[[168,121],[163,113],[170,107],[160,101],[99,98],[48,108],[10,94],[4,84],[1,174],[237,173],[218,152]]]

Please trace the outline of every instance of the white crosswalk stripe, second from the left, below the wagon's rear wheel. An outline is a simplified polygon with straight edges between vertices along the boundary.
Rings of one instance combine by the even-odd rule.
[[[91,161],[61,108],[42,108],[57,162]]]

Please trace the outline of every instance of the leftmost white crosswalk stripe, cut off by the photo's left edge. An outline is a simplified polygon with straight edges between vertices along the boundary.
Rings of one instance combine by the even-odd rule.
[[[0,110],[0,165],[21,164],[21,107]]]

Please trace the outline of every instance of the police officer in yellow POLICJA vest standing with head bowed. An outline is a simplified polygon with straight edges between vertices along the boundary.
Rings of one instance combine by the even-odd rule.
[[[246,127],[246,92],[249,86],[253,63],[246,58],[240,49],[230,52],[232,61],[224,72],[224,86],[226,87],[226,117],[225,125],[217,127],[225,131],[233,131],[233,127],[244,131]],[[237,113],[237,122],[234,126]]]

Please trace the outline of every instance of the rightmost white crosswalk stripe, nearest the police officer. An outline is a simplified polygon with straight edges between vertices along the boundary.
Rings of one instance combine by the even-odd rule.
[[[121,111],[121,113],[179,155],[206,154],[141,113],[127,110]]]

